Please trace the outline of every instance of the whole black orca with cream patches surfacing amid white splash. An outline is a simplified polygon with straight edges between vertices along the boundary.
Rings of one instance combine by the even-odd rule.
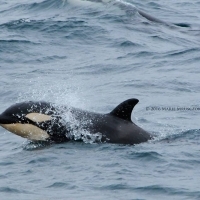
[[[32,141],[65,142],[73,139],[74,129],[82,129],[91,135],[101,134],[101,142],[139,144],[151,139],[151,135],[131,121],[132,110],[138,102],[138,99],[128,99],[108,114],[47,102],[22,102],[0,115],[0,125]],[[65,121],[65,113],[70,113],[76,126]]]

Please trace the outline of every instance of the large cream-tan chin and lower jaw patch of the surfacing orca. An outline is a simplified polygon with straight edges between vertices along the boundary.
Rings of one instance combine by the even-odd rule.
[[[16,124],[0,124],[0,125],[16,135],[19,135],[21,137],[33,141],[36,140],[45,141],[50,137],[46,131],[43,131],[42,129],[32,124],[16,123]]]

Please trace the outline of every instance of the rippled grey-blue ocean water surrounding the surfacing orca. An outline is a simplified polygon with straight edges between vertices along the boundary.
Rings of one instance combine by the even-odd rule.
[[[1,0],[0,112],[138,98],[132,120],[155,138],[45,146],[0,128],[0,199],[200,199],[199,21],[197,0]]]

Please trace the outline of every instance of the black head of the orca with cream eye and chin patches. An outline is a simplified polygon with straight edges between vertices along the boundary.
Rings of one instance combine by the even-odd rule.
[[[66,126],[58,109],[46,102],[17,103],[0,115],[0,125],[8,131],[33,141],[64,141]]]

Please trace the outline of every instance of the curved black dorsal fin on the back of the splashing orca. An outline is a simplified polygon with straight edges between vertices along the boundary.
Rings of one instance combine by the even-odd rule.
[[[110,112],[110,114],[115,117],[131,121],[132,110],[138,102],[138,99],[128,99],[120,103],[112,112]]]

